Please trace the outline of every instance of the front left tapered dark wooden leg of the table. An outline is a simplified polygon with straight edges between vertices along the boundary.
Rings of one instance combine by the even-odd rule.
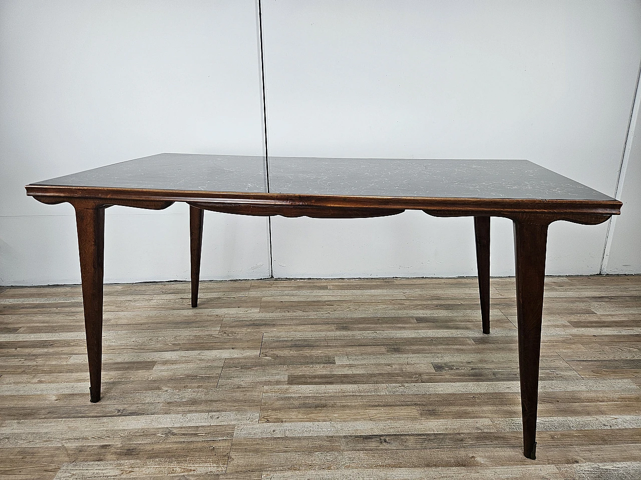
[[[85,308],[90,399],[100,401],[103,358],[104,207],[76,207],[78,250]]]

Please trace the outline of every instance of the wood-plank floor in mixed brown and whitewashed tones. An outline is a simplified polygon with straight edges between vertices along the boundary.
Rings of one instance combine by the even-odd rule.
[[[0,479],[641,479],[641,276],[547,278],[537,460],[513,278],[0,292]]]

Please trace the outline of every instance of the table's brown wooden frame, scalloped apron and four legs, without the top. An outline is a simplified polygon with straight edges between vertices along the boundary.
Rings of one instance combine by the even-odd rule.
[[[33,184],[26,186],[26,190],[27,195],[45,204],[69,202],[76,209],[90,401],[94,403],[100,400],[101,385],[104,209],[107,207],[122,205],[162,210],[174,202],[190,205],[192,307],[196,307],[198,302],[204,210],[253,216],[370,218],[413,209],[438,217],[472,216],[483,333],[490,332],[490,217],[510,218],[514,223],[523,452],[533,460],[537,445],[547,227],[558,220],[597,225],[612,215],[620,214],[622,205],[617,200],[292,195]]]

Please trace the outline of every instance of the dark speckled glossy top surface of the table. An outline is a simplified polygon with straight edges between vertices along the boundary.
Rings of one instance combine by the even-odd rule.
[[[265,193],[265,158],[159,154],[36,185]],[[269,157],[269,192],[301,195],[613,200],[527,160]]]

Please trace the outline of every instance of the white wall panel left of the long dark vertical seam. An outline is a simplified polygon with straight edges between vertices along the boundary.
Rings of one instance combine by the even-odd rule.
[[[160,152],[263,155],[254,0],[0,3],[0,284],[80,280],[24,185]],[[188,210],[106,211],[106,282],[188,278]],[[269,276],[267,220],[206,213],[203,278]]]

